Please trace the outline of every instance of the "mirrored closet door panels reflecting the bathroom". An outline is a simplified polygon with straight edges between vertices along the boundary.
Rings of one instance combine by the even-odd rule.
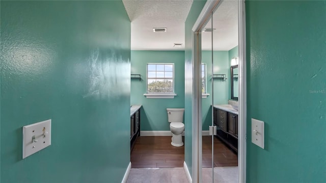
[[[219,107],[231,108],[231,89],[237,90],[230,85],[232,80],[237,86],[230,67],[232,59],[238,57],[238,1],[221,0],[212,13],[201,31],[206,91],[211,92],[210,100],[202,100],[202,128],[204,131],[208,125],[216,126],[217,134],[202,136],[202,182],[237,182],[237,115]],[[222,77],[212,80],[213,74],[223,74],[227,80]],[[237,97],[237,92],[233,95]]]

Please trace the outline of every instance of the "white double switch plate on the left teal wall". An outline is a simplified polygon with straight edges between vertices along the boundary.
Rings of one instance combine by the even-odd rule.
[[[22,127],[22,159],[51,145],[51,119]]]

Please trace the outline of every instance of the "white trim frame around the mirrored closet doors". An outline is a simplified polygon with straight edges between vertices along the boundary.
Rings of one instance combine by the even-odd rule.
[[[202,182],[202,94],[201,94],[201,29],[220,0],[207,1],[192,29],[193,38],[193,172],[192,182]],[[239,123],[238,182],[246,182],[247,158],[247,75],[246,75],[246,10],[244,0],[238,0],[239,47]]]

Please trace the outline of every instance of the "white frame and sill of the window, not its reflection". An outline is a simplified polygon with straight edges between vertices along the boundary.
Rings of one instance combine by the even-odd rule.
[[[172,80],[173,80],[173,91],[171,93],[148,93],[148,65],[172,65],[173,69],[172,69]],[[157,70],[156,70],[157,72]],[[147,63],[146,64],[146,93],[144,94],[144,96],[146,96],[146,98],[174,98],[174,96],[176,96],[177,94],[174,93],[174,86],[175,86],[175,79],[174,79],[174,73],[175,73],[175,68],[174,68],[174,63]],[[150,79],[159,79],[159,80],[166,80],[166,77],[155,77],[155,78],[150,78]],[[171,78],[169,77],[169,79],[171,80]]]

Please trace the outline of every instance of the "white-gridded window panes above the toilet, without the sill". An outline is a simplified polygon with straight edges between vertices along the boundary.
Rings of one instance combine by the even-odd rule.
[[[147,64],[147,93],[174,93],[174,64]]]

